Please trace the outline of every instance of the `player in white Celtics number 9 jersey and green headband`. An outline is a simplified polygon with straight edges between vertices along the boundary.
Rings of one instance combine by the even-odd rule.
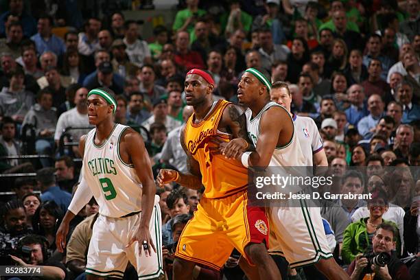
[[[64,250],[69,222],[94,196],[100,215],[89,244],[87,279],[121,279],[128,261],[139,279],[159,279],[161,210],[143,139],[114,123],[117,102],[110,89],[91,90],[87,104],[95,128],[80,139],[82,181],[57,231],[56,246]]]

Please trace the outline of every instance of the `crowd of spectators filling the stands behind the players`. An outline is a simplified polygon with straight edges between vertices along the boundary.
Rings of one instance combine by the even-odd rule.
[[[179,2],[173,21],[144,38],[141,21],[123,12],[105,9],[97,18],[80,1],[0,1],[0,172],[28,174],[0,182],[0,258],[43,265],[47,278],[86,277],[95,200],[72,221],[65,254],[54,240],[80,176],[77,144],[91,129],[91,89],[117,94],[115,122],[142,135],[155,176],[165,167],[186,172],[179,134],[193,110],[185,73],[205,69],[215,80],[213,100],[237,103],[241,75],[255,67],[288,82],[292,114],[314,119],[340,175],[336,193],[374,194],[323,201],[339,264],[363,279],[366,256],[386,252],[391,262],[375,268],[374,279],[419,279],[419,0]],[[40,156],[19,159],[27,154]],[[202,191],[165,185],[156,194],[171,279],[176,242]],[[32,248],[29,259],[23,246]],[[240,279],[238,259],[234,251],[222,272],[196,266],[194,275]],[[313,267],[277,262],[290,279],[325,279]],[[130,266],[126,277],[137,279]]]

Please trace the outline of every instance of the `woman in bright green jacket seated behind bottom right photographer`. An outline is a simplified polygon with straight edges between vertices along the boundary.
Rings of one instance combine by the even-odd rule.
[[[350,264],[359,253],[367,254],[372,252],[372,237],[376,228],[382,222],[387,222],[382,215],[388,209],[388,198],[382,189],[375,189],[372,199],[368,202],[369,217],[361,218],[352,222],[345,229],[342,240],[341,255],[345,264]],[[395,229],[397,224],[391,222]],[[397,252],[401,248],[401,240],[397,237]]]

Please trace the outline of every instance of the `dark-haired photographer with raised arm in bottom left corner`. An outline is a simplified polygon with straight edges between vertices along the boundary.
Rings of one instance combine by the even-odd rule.
[[[41,235],[27,235],[19,240],[16,255],[10,255],[12,260],[18,266],[24,267],[40,267],[43,276],[19,277],[19,279],[51,279],[63,280],[66,277],[66,268],[59,262],[48,261],[47,248],[49,244],[45,237]],[[16,279],[16,278],[14,278]]]

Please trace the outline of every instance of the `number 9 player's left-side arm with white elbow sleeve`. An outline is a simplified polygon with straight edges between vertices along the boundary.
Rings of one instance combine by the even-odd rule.
[[[86,143],[86,135],[83,135],[80,137],[79,141],[79,151],[80,154],[84,154],[84,144]],[[71,220],[77,215],[80,210],[83,209],[83,207],[91,200],[92,198],[92,191],[83,179],[78,185],[78,189],[75,191],[75,194],[73,198],[71,199],[69,209],[67,210],[67,213],[65,214],[64,218],[62,219],[62,222],[60,224],[60,227],[57,230],[56,233],[56,246],[59,252],[63,252],[64,248],[66,247],[66,236],[67,233],[69,233],[69,224]]]

